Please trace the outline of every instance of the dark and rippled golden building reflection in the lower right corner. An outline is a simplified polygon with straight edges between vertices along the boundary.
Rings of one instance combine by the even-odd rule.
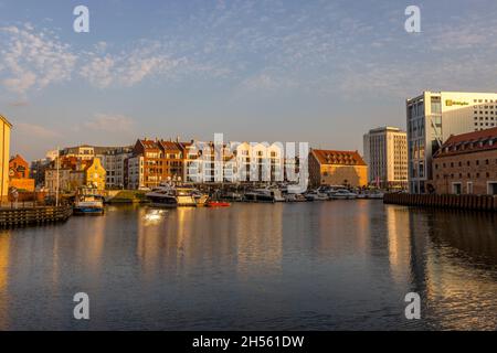
[[[497,217],[473,212],[415,212],[430,235],[424,248],[425,314],[437,329],[477,330],[497,327]]]

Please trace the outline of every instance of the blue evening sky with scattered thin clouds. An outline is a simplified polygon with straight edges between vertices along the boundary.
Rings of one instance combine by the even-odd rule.
[[[496,50],[495,0],[0,0],[0,114],[28,160],[215,132],[361,151],[423,90],[497,92]]]

